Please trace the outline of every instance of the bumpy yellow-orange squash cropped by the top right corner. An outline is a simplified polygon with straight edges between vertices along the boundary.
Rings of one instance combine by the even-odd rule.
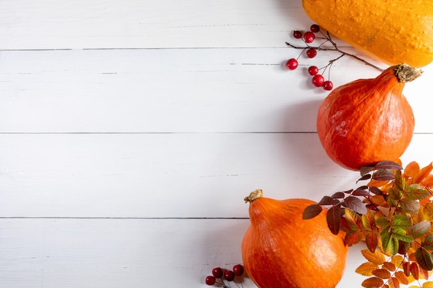
[[[332,35],[389,65],[433,61],[433,3],[426,0],[302,0]]]

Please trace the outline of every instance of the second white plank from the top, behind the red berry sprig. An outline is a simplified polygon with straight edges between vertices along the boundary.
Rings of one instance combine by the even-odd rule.
[[[352,50],[356,52],[355,50]],[[326,97],[306,67],[282,63],[289,48],[2,52],[0,132],[314,132]],[[300,60],[301,61],[301,60]],[[351,59],[335,86],[378,72]],[[433,66],[405,87],[416,132],[432,133],[423,95]],[[350,73],[348,73],[348,71]]]

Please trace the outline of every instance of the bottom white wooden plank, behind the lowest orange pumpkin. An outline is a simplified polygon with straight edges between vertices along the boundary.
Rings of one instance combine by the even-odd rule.
[[[248,225],[248,219],[0,219],[0,286],[208,287],[212,268],[241,263]],[[349,253],[338,288],[363,280],[354,270],[365,260],[357,247]],[[243,287],[255,285],[245,278]]]

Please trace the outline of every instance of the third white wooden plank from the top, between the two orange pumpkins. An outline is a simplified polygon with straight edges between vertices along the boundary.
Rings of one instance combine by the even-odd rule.
[[[403,162],[433,160],[414,135]],[[243,198],[310,198],[355,187],[315,133],[3,134],[0,215],[246,217]]]

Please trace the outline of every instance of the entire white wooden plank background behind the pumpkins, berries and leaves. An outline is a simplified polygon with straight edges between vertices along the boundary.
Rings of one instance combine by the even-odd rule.
[[[0,287],[207,287],[241,262],[250,191],[354,188],[322,151],[327,92],[306,76],[337,55],[282,65],[311,23],[301,0],[2,0]],[[433,161],[424,70],[405,87],[403,164]],[[376,75],[343,58],[331,80]],[[360,286],[362,248],[338,287]]]

